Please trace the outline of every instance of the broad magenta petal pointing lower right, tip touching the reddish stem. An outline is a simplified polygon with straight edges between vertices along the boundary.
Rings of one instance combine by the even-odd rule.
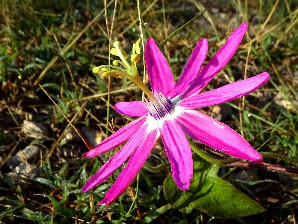
[[[229,126],[195,110],[184,111],[177,117],[188,136],[230,156],[262,162],[262,156]]]

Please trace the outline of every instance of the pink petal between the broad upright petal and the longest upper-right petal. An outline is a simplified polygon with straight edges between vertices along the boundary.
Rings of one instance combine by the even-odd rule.
[[[207,51],[208,42],[207,39],[203,38],[198,41],[197,45],[193,49],[193,52],[190,54],[181,76],[170,94],[171,98],[174,98],[186,90],[190,82],[198,75],[206,58]]]

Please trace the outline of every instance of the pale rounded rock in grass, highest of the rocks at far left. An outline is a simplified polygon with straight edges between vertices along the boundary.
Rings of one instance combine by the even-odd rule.
[[[41,125],[40,123],[24,120],[23,128],[24,134],[31,138],[41,138],[44,136],[49,136],[49,131]]]

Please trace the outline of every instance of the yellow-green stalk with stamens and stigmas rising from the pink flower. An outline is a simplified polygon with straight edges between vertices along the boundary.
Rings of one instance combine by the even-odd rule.
[[[115,48],[110,50],[112,55],[118,56],[120,60],[114,60],[113,65],[101,65],[92,68],[92,72],[101,73],[103,76],[113,76],[118,79],[126,77],[133,81],[149,98],[151,102],[158,103],[156,97],[151,93],[151,91],[146,87],[140,78],[139,72],[136,67],[136,63],[141,60],[139,54],[141,39],[139,38],[136,43],[132,46],[132,54],[130,57],[131,64],[128,63],[128,55],[120,49],[120,42],[115,41],[113,43]]]

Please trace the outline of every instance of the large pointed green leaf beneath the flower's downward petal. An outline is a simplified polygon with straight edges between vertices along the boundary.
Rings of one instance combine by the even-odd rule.
[[[177,188],[173,178],[164,181],[164,194],[173,208],[189,214],[194,208],[215,218],[235,218],[265,211],[257,202],[217,176],[219,165],[193,156],[193,179],[188,191]]]

